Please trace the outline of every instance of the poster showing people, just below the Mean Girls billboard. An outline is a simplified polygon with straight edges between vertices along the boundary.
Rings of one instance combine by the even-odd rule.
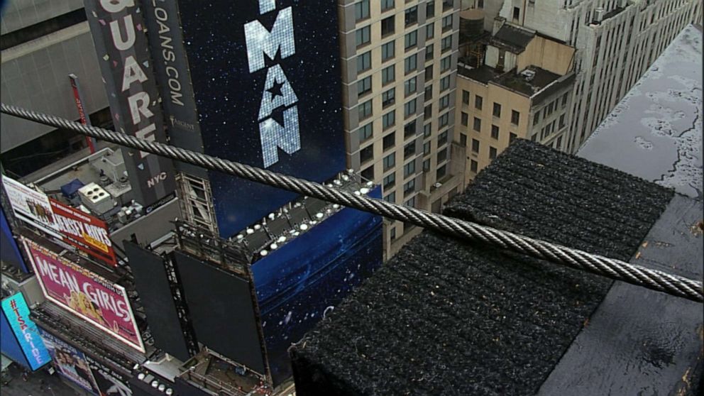
[[[99,395],[98,385],[84,354],[43,329],[40,329],[40,334],[57,371],[84,390]]]

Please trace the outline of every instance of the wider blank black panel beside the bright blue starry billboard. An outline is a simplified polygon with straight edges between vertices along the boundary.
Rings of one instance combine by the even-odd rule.
[[[174,253],[199,343],[264,373],[250,281],[187,253]]]

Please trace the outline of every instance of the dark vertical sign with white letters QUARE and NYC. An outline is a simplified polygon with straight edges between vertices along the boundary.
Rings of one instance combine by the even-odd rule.
[[[134,1],[84,0],[84,5],[115,130],[167,141],[140,7]],[[132,192],[147,212],[174,194],[171,160],[140,150],[123,152]]]

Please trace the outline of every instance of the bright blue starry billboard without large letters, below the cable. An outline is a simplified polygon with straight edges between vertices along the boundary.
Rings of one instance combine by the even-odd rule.
[[[380,195],[380,187],[370,193]],[[291,343],[381,265],[381,224],[381,216],[342,209],[252,265],[275,385],[291,375]]]

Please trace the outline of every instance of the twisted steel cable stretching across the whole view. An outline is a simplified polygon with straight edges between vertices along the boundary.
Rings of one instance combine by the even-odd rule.
[[[547,260],[551,263],[566,265],[570,268],[609,277],[613,280],[621,280],[632,285],[647,287],[651,290],[665,292],[669,295],[683,297],[695,302],[704,302],[704,287],[702,282],[686,277],[664,273],[659,270],[651,270],[640,265],[626,263],[622,260],[605,258],[600,255],[560,246],[555,243],[539,241],[509,231],[497,230],[441,214],[434,214],[412,207],[392,204],[382,199],[356,195],[351,192],[345,192],[340,189],[298,179],[297,177],[281,175],[251,165],[244,165],[231,160],[196,153],[191,150],[186,150],[185,148],[177,148],[155,141],[145,141],[141,138],[129,136],[124,133],[108,131],[94,126],[85,126],[81,123],[62,119],[57,116],[42,114],[16,106],[1,104],[0,111],[21,119],[43,123],[57,128],[66,128],[81,133],[82,135],[91,136],[129,148],[136,148],[141,151],[171,158],[172,160],[178,160],[182,163],[197,165],[209,170],[217,170],[253,182],[259,182],[297,192],[298,194],[308,197],[315,197],[327,202],[341,204],[345,207],[380,214],[389,219],[405,221],[466,241],[486,243],[497,248]]]

